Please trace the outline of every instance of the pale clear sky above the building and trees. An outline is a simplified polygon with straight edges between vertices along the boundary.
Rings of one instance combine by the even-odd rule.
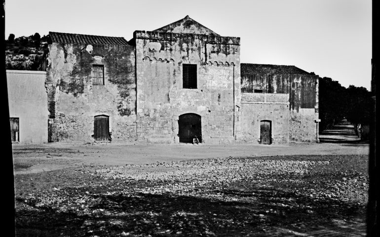
[[[240,37],[240,62],[294,65],[370,90],[372,0],[6,0],[5,36],[124,37],[190,18]]]

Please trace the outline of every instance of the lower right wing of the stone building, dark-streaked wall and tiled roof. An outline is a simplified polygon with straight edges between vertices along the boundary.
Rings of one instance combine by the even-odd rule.
[[[318,76],[295,66],[241,64],[241,132],[260,140],[259,122],[269,121],[274,143],[315,142]]]

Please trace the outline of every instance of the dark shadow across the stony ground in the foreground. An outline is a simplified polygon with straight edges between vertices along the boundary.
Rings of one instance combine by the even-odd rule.
[[[89,213],[36,208],[16,212],[17,236],[342,236],[365,233],[363,206],[331,199],[318,202],[279,189],[224,189],[216,198],[154,195],[96,195]],[[246,200],[246,201],[245,201]],[[23,202],[24,200],[18,199]],[[33,203],[30,203],[34,206]],[[336,222],[335,220],[343,220]]]

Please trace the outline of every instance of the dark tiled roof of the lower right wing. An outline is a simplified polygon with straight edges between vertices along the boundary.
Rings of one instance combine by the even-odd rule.
[[[310,73],[297,68],[296,66],[286,65],[271,65],[271,64],[252,64],[241,63],[241,74],[303,74],[310,75]]]

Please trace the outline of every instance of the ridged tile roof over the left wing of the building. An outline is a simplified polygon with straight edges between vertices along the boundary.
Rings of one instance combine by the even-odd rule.
[[[127,40],[122,37],[91,36],[80,34],[69,34],[49,32],[52,42],[69,44],[94,44],[94,45],[128,45]]]

